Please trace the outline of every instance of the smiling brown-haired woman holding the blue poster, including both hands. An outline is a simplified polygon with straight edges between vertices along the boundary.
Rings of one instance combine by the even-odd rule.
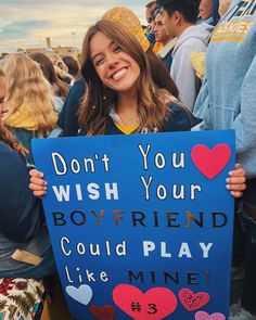
[[[137,39],[107,20],[90,27],[82,46],[81,75],[87,92],[79,110],[80,136],[188,131],[200,119],[166,90],[157,88],[149,60]],[[42,174],[30,171],[30,189],[46,193]],[[227,188],[234,196],[245,189],[236,165]]]

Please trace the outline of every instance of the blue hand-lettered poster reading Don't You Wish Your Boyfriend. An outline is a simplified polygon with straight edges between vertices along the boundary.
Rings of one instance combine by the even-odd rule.
[[[33,150],[75,319],[228,319],[233,131],[38,139]]]

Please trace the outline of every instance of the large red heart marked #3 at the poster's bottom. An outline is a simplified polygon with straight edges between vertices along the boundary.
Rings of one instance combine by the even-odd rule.
[[[153,287],[142,293],[130,284],[118,284],[113,291],[115,304],[132,319],[159,320],[177,307],[175,294],[166,287]]]

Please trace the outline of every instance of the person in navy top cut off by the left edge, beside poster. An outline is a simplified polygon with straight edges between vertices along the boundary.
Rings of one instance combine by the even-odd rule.
[[[0,278],[40,279],[54,260],[41,201],[28,189],[27,151],[3,124],[5,88],[0,69]]]

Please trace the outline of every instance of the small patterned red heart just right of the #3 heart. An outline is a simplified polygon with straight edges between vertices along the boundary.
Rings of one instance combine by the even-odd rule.
[[[179,298],[188,311],[197,310],[209,302],[209,295],[206,292],[193,293],[189,289],[181,289],[179,291]]]

